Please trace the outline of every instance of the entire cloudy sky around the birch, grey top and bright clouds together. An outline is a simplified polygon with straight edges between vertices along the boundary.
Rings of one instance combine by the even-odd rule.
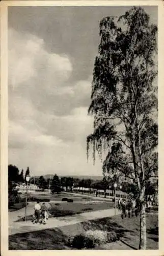
[[[86,137],[99,21],[130,7],[10,7],[9,163],[31,175],[101,175]],[[157,8],[144,7],[157,24]]]

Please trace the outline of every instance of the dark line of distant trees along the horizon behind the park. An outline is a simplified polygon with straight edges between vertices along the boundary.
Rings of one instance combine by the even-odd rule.
[[[15,200],[18,197],[16,185],[25,183],[25,177],[30,175],[30,169],[27,167],[25,175],[23,174],[23,169],[19,171],[18,167],[15,165],[8,166],[8,191],[9,191],[9,202]],[[107,189],[114,190],[114,184],[117,183],[117,189],[122,190],[125,193],[132,193],[134,196],[138,194],[138,188],[135,183],[129,183],[128,181],[119,182],[119,178],[115,175],[112,179],[107,179],[103,177],[102,180],[93,180],[93,179],[78,179],[73,177],[61,177],[57,174],[51,178],[45,179],[44,176],[40,177],[31,177],[29,184],[35,184],[44,191],[45,189],[50,189],[52,193],[59,193],[60,191],[66,189],[66,191],[72,191],[72,188],[91,188],[104,190],[104,193]],[[120,189],[120,185],[122,188]],[[146,196],[154,195],[157,184],[148,182],[146,187]],[[104,194],[105,196],[105,194]]]

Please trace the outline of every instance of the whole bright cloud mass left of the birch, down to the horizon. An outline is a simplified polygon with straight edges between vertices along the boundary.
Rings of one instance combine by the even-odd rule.
[[[87,163],[91,78],[70,83],[67,55],[47,52],[32,34],[9,29],[9,162],[33,174],[101,174]]]

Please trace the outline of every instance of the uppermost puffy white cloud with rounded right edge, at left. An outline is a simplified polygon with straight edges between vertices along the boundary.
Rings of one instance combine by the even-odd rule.
[[[61,84],[70,76],[69,58],[45,51],[43,39],[9,29],[8,41],[9,84],[13,89],[28,81],[37,90],[51,88],[55,92],[58,82]]]

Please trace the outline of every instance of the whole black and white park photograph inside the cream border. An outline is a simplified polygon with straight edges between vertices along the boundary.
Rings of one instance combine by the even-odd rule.
[[[8,249],[158,250],[158,5],[8,6],[7,36]]]

